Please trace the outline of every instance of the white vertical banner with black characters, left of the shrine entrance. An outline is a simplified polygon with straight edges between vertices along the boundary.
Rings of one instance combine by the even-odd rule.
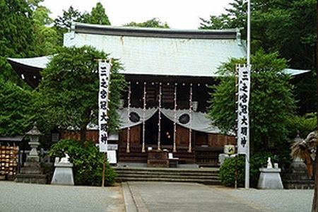
[[[105,60],[98,61],[98,73],[100,79],[100,90],[98,92],[98,126],[100,152],[107,152],[108,140],[108,102],[110,93],[110,69],[112,64]]]

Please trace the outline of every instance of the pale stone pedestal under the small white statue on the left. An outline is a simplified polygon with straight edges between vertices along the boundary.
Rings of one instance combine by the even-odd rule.
[[[54,163],[54,166],[51,184],[74,185],[73,163]]]

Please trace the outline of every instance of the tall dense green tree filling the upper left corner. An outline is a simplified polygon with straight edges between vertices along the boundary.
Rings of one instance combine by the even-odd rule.
[[[33,11],[24,0],[0,0],[0,11],[0,75],[18,81],[6,58],[33,56]]]

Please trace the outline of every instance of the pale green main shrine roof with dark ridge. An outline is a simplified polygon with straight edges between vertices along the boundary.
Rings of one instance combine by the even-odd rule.
[[[236,30],[125,28],[75,23],[64,45],[92,45],[124,64],[124,74],[216,76],[230,57],[245,57]]]

